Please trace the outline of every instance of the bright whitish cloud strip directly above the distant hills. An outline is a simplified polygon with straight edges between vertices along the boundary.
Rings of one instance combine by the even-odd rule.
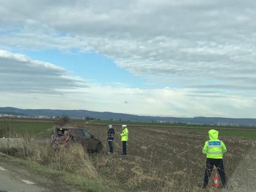
[[[16,103],[15,107],[19,108],[86,109],[176,117],[254,117],[255,98],[191,97],[188,95],[191,91],[193,89],[148,90],[90,86],[62,95],[21,93],[17,97],[17,94],[3,92],[0,99],[6,106]]]

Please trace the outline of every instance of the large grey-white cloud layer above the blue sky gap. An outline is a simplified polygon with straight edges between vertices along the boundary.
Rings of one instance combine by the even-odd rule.
[[[237,89],[250,83],[247,76],[256,81],[253,1],[28,1],[26,7],[1,1],[0,7],[3,49],[96,51],[169,86],[234,87],[238,75]]]

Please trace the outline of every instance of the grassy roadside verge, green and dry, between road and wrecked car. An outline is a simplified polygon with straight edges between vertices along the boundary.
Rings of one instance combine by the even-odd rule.
[[[14,157],[11,158],[12,161],[28,167],[29,170],[61,180],[81,191],[120,191],[106,187],[92,163],[90,154],[81,145],[52,150],[49,145],[38,145],[29,135],[23,139],[18,148],[2,149],[2,152]]]

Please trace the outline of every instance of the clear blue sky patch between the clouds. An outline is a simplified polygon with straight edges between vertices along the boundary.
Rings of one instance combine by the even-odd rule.
[[[19,52],[20,53],[20,52]],[[101,85],[122,84],[126,87],[148,86],[141,77],[134,76],[129,71],[115,65],[114,61],[98,53],[70,53],[59,50],[22,52],[31,59],[50,62],[68,70],[69,75],[80,76],[85,80]]]

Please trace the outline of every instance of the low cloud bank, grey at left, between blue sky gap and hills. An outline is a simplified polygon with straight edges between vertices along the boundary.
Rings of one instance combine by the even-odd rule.
[[[255,97],[241,98],[228,93],[224,97],[210,91],[202,94],[197,88],[130,89],[87,85],[84,79],[66,73],[51,63],[0,50],[1,105],[179,117],[254,117]]]

